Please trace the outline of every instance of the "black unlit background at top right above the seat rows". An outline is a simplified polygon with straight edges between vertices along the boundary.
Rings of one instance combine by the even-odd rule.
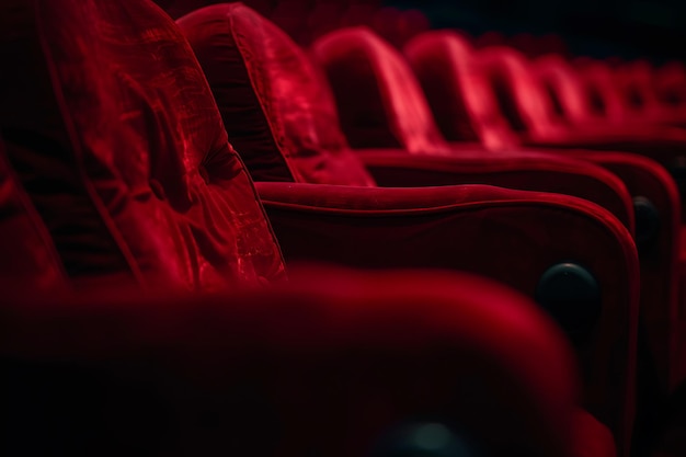
[[[432,27],[479,36],[557,34],[574,55],[686,58],[686,0],[395,0],[385,4],[424,11]],[[526,39],[527,37],[519,36]]]

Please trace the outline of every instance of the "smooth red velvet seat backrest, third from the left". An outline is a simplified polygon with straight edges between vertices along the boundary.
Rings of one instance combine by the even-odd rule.
[[[329,78],[353,148],[449,155],[408,64],[369,28],[324,35],[313,43],[312,55]]]

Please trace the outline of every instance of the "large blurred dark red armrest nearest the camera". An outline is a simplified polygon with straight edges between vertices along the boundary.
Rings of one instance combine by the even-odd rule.
[[[575,412],[559,331],[472,275],[318,265],[230,295],[21,290],[0,321],[8,456],[348,457],[419,420],[476,455],[611,457],[572,453],[604,430]]]

